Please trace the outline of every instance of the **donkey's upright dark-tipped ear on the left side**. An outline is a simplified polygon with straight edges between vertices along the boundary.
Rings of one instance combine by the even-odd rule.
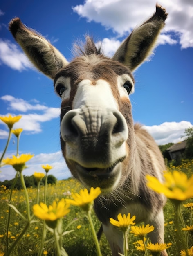
[[[19,18],[11,20],[9,30],[29,60],[46,76],[54,79],[58,70],[67,65],[65,57],[51,43],[28,29]]]

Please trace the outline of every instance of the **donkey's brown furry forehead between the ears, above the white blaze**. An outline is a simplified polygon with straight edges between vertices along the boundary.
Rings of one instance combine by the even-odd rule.
[[[76,57],[56,74],[54,83],[61,76],[70,77],[72,83],[79,83],[84,79],[91,81],[105,79],[111,81],[122,74],[129,75],[134,82],[134,78],[128,67],[103,55],[91,54],[89,56]]]

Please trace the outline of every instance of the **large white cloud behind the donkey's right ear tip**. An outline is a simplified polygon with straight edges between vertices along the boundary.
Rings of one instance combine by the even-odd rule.
[[[118,36],[130,33],[155,11],[157,0],[85,0],[84,4],[72,7],[79,16],[88,22],[101,23],[106,29],[112,29]],[[193,47],[193,1],[191,0],[159,0],[169,13],[164,28],[165,40],[162,43],[176,43],[176,36],[182,48]],[[174,32],[175,38],[168,32]],[[166,37],[167,36],[167,37]]]

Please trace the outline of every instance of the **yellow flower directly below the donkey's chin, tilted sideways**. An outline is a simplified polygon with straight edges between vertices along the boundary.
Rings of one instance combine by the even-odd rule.
[[[90,193],[88,193],[87,189],[81,189],[79,194],[74,193],[72,195],[72,199],[65,199],[65,201],[68,204],[72,204],[75,206],[81,207],[84,211],[89,211],[90,206],[94,203],[94,199],[97,198],[101,194],[101,189],[99,187],[96,187],[94,189],[93,187],[90,188]]]

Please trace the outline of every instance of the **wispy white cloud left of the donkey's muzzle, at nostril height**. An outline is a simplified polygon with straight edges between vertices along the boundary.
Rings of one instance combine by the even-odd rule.
[[[40,104],[32,105],[23,99],[18,99],[11,95],[2,96],[0,99],[7,101],[9,104],[7,108],[8,110],[20,112],[28,111],[27,114],[22,114],[22,118],[14,124],[14,128],[16,129],[22,127],[24,131],[27,131],[30,134],[41,132],[41,123],[58,118],[60,115],[60,108],[52,108]],[[29,113],[30,110],[41,111],[41,113]],[[4,124],[2,121],[0,121],[0,123]],[[3,139],[4,136],[5,133],[0,136],[0,139]]]

